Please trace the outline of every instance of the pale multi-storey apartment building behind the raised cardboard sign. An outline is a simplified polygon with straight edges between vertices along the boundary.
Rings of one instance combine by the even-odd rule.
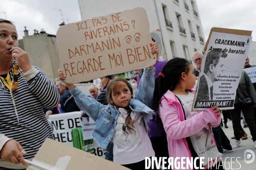
[[[146,10],[164,60],[182,57],[193,63],[192,53],[202,53],[206,40],[196,0],[79,0],[82,20],[137,7]]]

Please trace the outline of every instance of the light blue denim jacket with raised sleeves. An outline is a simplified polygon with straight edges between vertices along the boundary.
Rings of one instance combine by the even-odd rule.
[[[153,113],[149,107],[151,106],[154,93],[154,74],[155,68],[146,68],[144,70],[135,99],[131,99],[129,105],[132,111],[142,113],[142,116],[137,121],[140,122],[140,119],[143,117],[147,132],[147,122]],[[118,108],[110,104],[102,105],[95,99],[88,98],[78,87],[71,90],[70,93],[79,108],[96,122],[92,133],[93,139],[99,144],[99,147],[106,148],[116,128],[116,121],[120,113]]]

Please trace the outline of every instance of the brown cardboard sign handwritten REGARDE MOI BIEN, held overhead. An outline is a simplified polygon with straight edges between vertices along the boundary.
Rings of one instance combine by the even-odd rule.
[[[68,83],[154,65],[152,43],[143,8],[67,24],[57,31],[60,68]]]

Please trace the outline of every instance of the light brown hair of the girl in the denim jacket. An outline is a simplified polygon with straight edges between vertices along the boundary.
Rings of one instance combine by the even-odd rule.
[[[119,83],[120,82],[124,82],[127,87],[129,88],[130,92],[131,92],[131,96],[133,96],[133,87],[131,86],[131,84],[126,80],[126,79],[122,79],[122,78],[115,78],[115,79],[112,79],[109,83],[108,83],[108,86],[107,86],[107,90],[106,90],[106,99],[107,99],[107,102],[113,106],[116,106],[115,103],[113,102],[113,98],[112,98],[112,94],[114,93],[115,89],[117,86],[119,86]],[[117,107],[117,106],[116,106]],[[127,116],[125,118],[125,124],[126,124],[126,127],[127,127],[127,130],[129,132],[131,132],[131,130],[133,130],[135,132],[134,129],[132,129],[129,125],[131,125],[132,127],[134,127],[134,122],[132,121],[131,119],[131,109],[128,105],[128,107],[125,108],[126,111],[127,111]],[[134,127],[135,128],[135,127]],[[132,132],[131,132],[132,133]],[[136,133],[136,132],[135,132]]]

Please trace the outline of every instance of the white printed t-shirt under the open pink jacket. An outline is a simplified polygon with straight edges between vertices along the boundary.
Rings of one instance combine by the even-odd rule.
[[[188,95],[177,95],[176,96],[180,99],[181,105],[184,108],[186,119],[190,119],[192,116],[200,113],[197,111],[191,111],[193,100],[194,100],[194,93],[188,91]],[[212,158],[214,160],[218,156],[220,156],[218,149],[215,145],[215,140],[213,137],[212,129],[210,128],[207,145],[205,146],[205,142],[207,139],[207,133],[208,133],[209,125],[206,125],[202,130],[200,130],[198,133],[195,133],[192,136],[189,136],[192,145],[195,149],[195,152],[198,154],[199,157],[204,157],[204,165],[208,163],[208,158]]]

